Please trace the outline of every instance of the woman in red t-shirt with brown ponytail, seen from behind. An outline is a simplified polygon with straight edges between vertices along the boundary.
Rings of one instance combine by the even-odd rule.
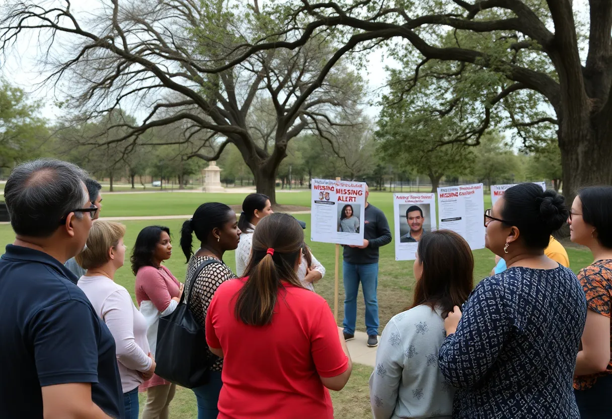
[[[223,359],[219,418],[329,418],[331,390],[353,366],[323,297],[296,271],[304,232],[272,214],[253,235],[247,277],[223,282],[206,316],[206,341]]]

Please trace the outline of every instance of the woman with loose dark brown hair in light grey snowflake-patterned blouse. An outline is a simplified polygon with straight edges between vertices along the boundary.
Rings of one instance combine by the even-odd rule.
[[[439,262],[444,255],[444,263]],[[468,299],[474,256],[449,230],[424,235],[414,260],[414,301],[384,328],[370,377],[375,419],[449,418],[453,394],[438,368],[444,317]]]

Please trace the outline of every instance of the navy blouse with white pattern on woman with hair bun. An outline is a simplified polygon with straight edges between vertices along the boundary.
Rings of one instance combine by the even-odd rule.
[[[573,371],[586,299],[568,268],[513,267],[483,279],[438,365],[453,418],[580,418]]]

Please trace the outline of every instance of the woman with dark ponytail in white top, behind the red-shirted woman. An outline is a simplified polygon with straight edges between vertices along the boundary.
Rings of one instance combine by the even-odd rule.
[[[253,232],[259,221],[274,213],[270,198],[264,194],[250,194],[242,202],[242,214],[238,220],[238,228],[242,231],[240,244],[236,249],[236,274],[244,276],[248,260],[251,258]]]

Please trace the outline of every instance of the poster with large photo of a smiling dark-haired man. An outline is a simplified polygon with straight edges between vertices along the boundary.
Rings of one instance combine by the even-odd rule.
[[[419,241],[436,228],[436,194],[394,194],[395,260],[416,259]]]

